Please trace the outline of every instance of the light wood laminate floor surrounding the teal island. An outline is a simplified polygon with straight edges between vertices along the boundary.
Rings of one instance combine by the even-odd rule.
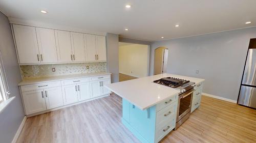
[[[115,94],[28,118],[17,142],[139,142],[121,123]],[[256,142],[256,110],[203,96],[167,142]]]

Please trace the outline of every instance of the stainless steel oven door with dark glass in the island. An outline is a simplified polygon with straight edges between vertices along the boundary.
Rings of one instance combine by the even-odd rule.
[[[191,89],[181,95],[179,95],[179,103],[178,103],[178,113],[176,122],[180,121],[187,113],[191,111],[191,102],[193,97],[193,92],[195,90]]]

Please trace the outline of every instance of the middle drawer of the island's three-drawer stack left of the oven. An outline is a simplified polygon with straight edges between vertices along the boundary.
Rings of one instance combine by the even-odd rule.
[[[158,111],[156,114],[156,125],[159,125],[162,122],[170,121],[170,118],[177,115],[176,112],[177,102],[170,104],[162,110]]]

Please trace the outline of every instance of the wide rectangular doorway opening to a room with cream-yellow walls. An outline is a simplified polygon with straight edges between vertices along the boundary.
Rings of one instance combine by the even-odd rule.
[[[119,81],[148,76],[149,46],[119,42]]]

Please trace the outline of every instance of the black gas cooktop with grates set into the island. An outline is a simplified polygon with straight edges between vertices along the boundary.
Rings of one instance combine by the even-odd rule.
[[[165,85],[170,88],[177,88],[183,84],[188,83],[189,80],[184,80],[184,79],[174,78],[174,77],[164,77],[158,80],[154,80],[153,82]]]

